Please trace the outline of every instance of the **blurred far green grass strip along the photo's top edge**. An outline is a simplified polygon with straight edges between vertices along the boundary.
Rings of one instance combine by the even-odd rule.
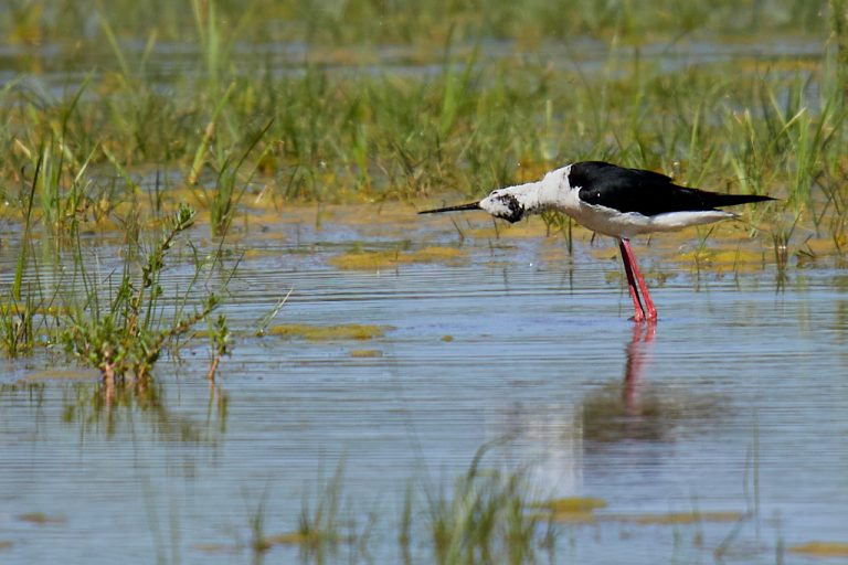
[[[645,35],[675,39],[691,33],[806,32],[822,22],[820,2],[768,0],[764,2],[681,2],[653,0],[568,0],[551,4],[529,0],[516,4],[498,0],[457,2],[431,0],[348,0],[316,6],[308,0],[233,0],[169,2],[152,0],[15,1],[0,17],[3,36],[18,44],[67,41],[67,30],[91,25],[91,14],[102,13],[117,36],[146,38],[150,29],[166,41],[182,40],[187,28],[210,30],[210,53],[232,46],[227,38],[211,29],[210,20],[227,20],[231,29],[247,26],[257,41],[303,41],[312,44],[432,44],[448,34],[468,40],[477,36],[522,42],[562,40],[575,35],[639,39]],[[213,23],[213,22],[212,22]],[[96,44],[98,38],[84,40]]]

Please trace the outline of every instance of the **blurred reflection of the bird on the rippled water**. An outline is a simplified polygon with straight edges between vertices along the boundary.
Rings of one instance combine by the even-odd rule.
[[[512,405],[490,423],[489,437],[502,440],[507,458],[521,461],[529,481],[551,497],[583,492],[587,469],[594,475],[623,461],[659,465],[664,451],[644,447],[714,427],[729,404],[720,394],[670,384],[669,377],[677,381],[674,371],[656,370],[651,362],[659,341],[657,326],[635,324],[624,345],[623,377],[592,379],[597,384],[573,403]],[[573,383],[564,380],[563,386]]]

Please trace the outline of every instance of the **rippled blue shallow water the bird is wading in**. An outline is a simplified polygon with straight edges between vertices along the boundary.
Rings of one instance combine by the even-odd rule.
[[[459,244],[449,224],[407,225],[412,241]],[[781,547],[848,539],[844,270],[793,269],[777,290],[766,264],[696,285],[685,266],[653,259],[667,255],[659,238],[640,242],[643,266],[666,277],[648,331],[626,319],[606,241],[595,245],[608,253],[577,242],[569,257],[561,238],[470,238],[453,266],[339,271],[329,257],[353,242],[391,248],[391,230],[271,227],[282,237],[253,239],[264,250],[231,285],[241,333],[216,388],[202,348],[160,362],[160,397],[146,409],[137,399],[98,412],[96,379],[46,377],[55,361],[3,362],[3,563],[254,562],[242,545],[257,508],[266,534],[294,531],[339,469],[344,526],[361,532],[369,515],[375,526],[368,553],[342,544],[325,561],[401,562],[407,486],[421,503],[484,445],[485,467],[524,469],[542,498],[607,502],[594,524],[561,525],[558,563],[702,563],[719,546],[728,561],[777,563]],[[250,337],[290,288],[277,322],[390,329],[371,341]],[[380,356],[352,355],[361,350]],[[691,511],[746,515],[621,519]],[[432,562],[426,536],[414,532],[412,562]],[[264,555],[297,557],[285,546]]]

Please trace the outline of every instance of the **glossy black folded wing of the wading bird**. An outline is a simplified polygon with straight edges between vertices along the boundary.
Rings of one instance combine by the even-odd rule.
[[[755,194],[719,194],[679,186],[665,174],[626,169],[603,161],[572,164],[569,183],[580,186],[580,200],[587,204],[611,207],[622,213],[638,212],[646,216],[774,200]]]

